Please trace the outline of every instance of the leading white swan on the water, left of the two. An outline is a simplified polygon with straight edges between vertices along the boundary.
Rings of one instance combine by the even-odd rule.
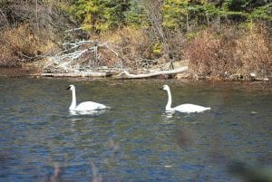
[[[87,110],[103,110],[108,108],[107,106],[101,103],[96,103],[93,101],[84,101],[76,105],[75,87],[73,85],[69,85],[66,90],[72,91],[72,103],[69,107],[69,110],[87,111]]]

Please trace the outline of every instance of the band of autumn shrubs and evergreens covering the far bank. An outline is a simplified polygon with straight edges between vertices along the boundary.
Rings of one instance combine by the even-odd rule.
[[[86,50],[76,59],[92,68],[181,62],[195,78],[270,79],[271,12],[267,0],[2,0],[0,66]]]

